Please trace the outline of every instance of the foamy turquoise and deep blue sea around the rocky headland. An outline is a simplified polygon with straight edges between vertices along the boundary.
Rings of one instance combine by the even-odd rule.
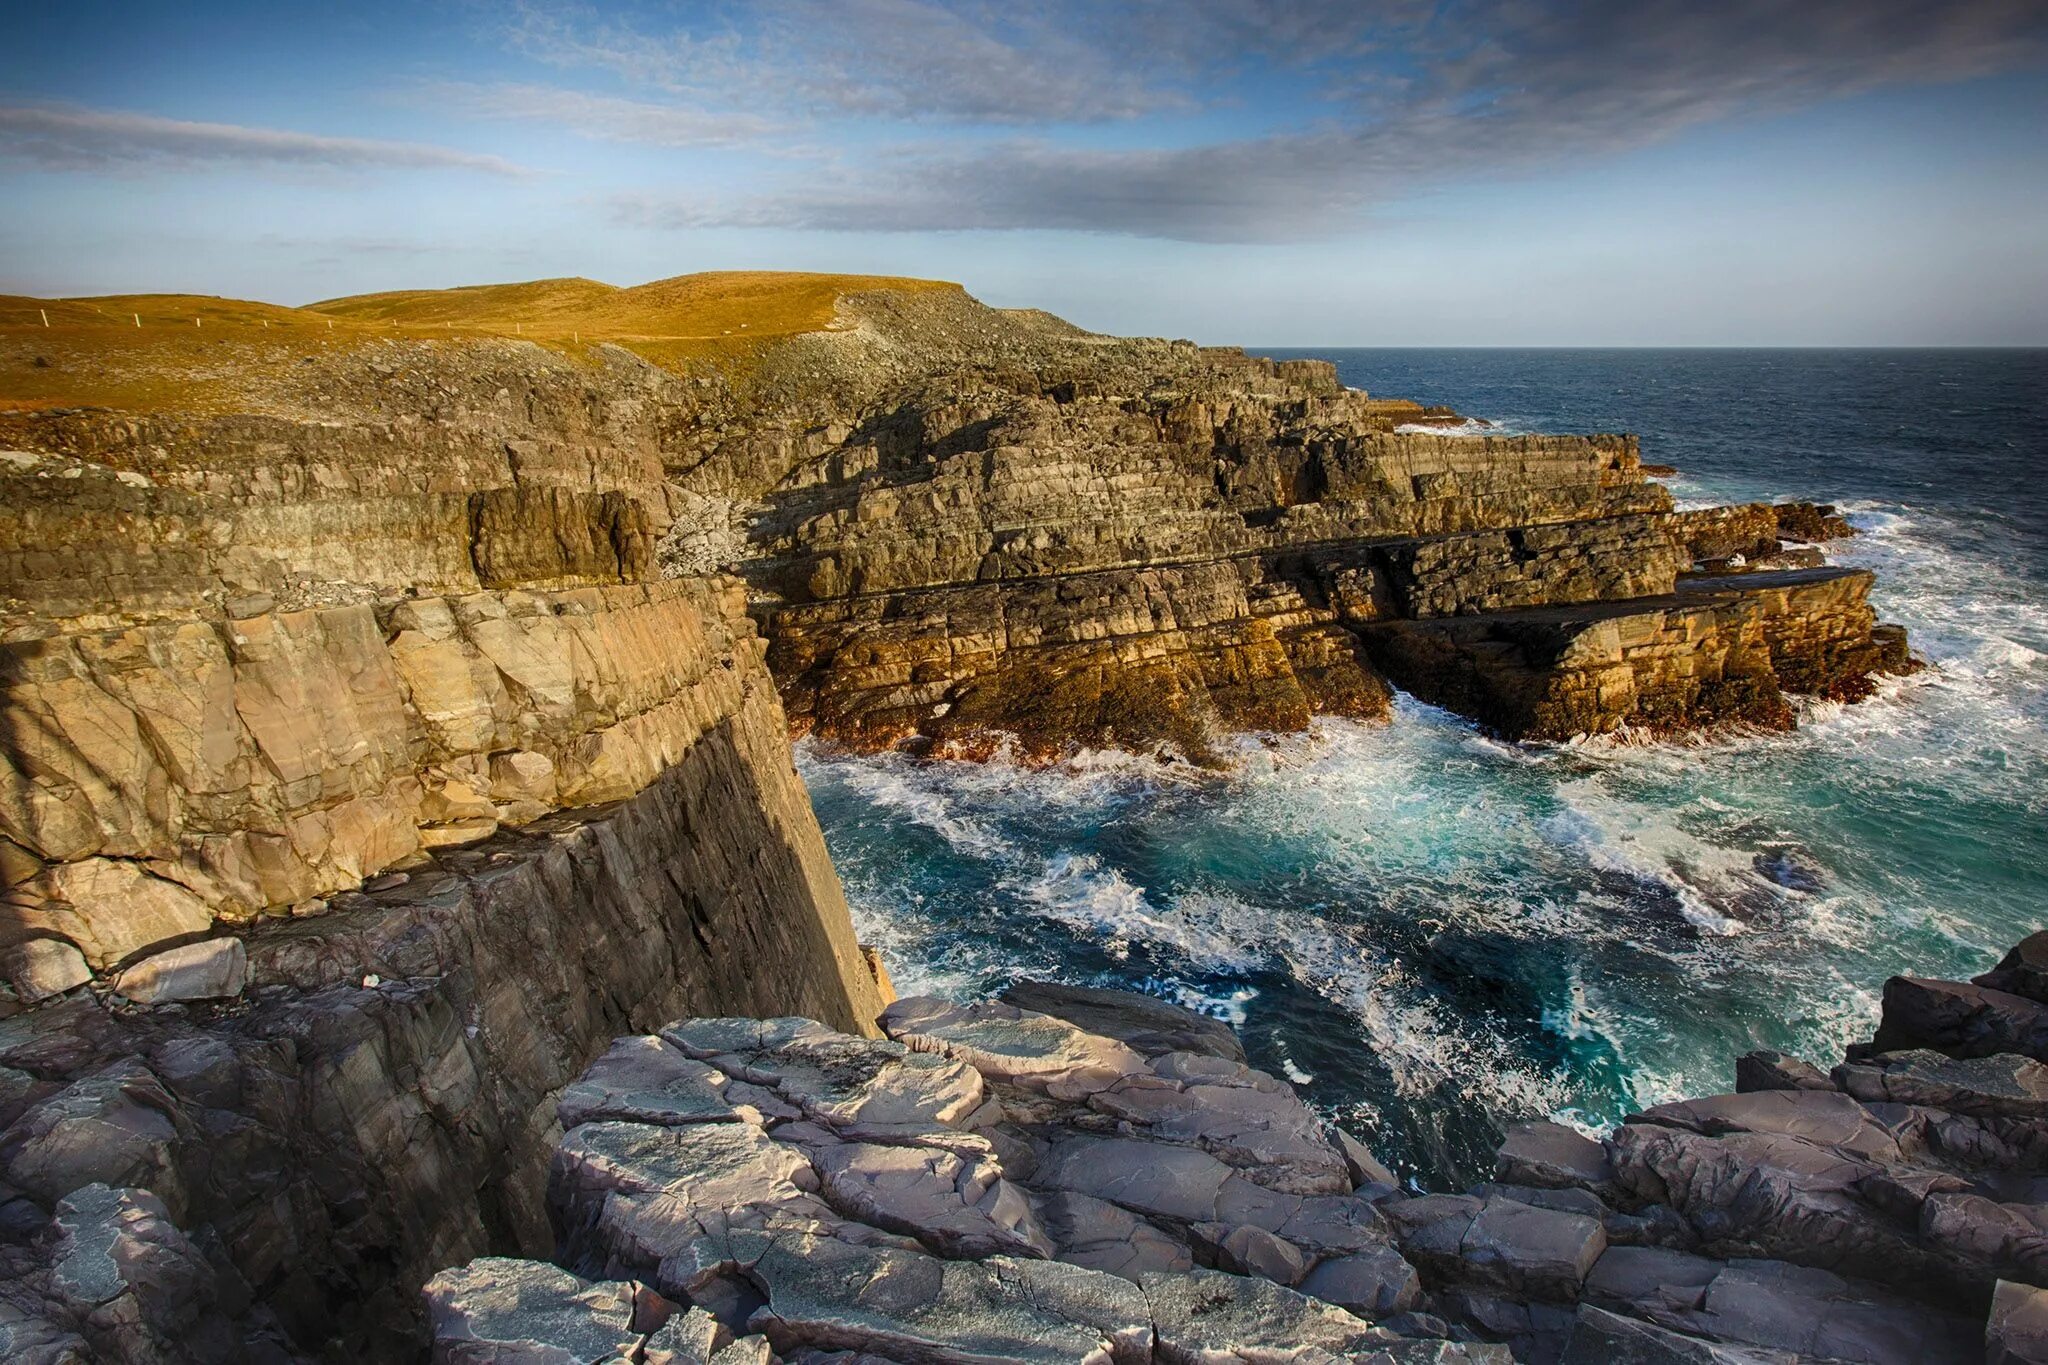
[[[1634,430],[1686,499],[1825,497],[1933,667],[1794,735],[1518,747],[1401,698],[1243,737],[1182,782],[799,765],[862,935],[909,995],[1018,974],[1241,1027],[1253,1060],[1423,1185],[1503,1121],[1606,1126],[1831,1062],[1896,970],[1978,972],[2048,925],[2042,352],[1321,352],[1509,430]]]

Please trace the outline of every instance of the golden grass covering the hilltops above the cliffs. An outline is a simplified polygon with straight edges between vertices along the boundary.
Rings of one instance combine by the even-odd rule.
[[[303,309],[203,295],[0,295],[0,411],[225,409],[246,399],[252,381],[279,379],[305,354],[393,336],[524,338],[569,354],[612,342],[674,370],[707,360],[745,366],[762,344],[829,327],[842,295],[877,289],[958,284],[721,270],[631,289],[561,278],[356,295]]]

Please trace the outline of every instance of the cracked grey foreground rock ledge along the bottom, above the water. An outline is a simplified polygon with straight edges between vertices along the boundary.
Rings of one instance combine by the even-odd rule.
[[[1933,984],[1886,997],[1880,1042],[1915,1048],[1831,1076],[1757,1054],[1737,1093],[1604,1142],[1530,1124],[1464,1195],[1397,1189],[1143,997],[1020,990],[1098,1031],[932,999],[895,1003],[887,1042],[690,1019],[563,1095],[561,1269],[442,1273],[436,1349],[530,1359],[537,1322],[627,1340],[641,1306],[627,1359],[670,1359],[662,1322],[700,1342],[676,1359],[2048,1359],[2048,1066],[1978,1056],[2040,1001],[1948,982],[2007,1019],[1958,1040],[1954,1011],[1892,1003]]]

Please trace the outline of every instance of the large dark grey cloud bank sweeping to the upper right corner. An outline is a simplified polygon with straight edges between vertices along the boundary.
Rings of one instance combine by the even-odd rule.
[[[795,6],[784,0],[780,8]],[[850,23],[883,33],[885,20],[907,23],[909,10],[932,6],[856,0],[844,8],[854,18],[840,29],[819,18],[821,33]],[[967,12],[985,14],[981,6]],[[1143,49],[1137,70],[1155,84],[1184,78],[1202,53],[1268,53],[1266,78],[1280,70],[1296,88],[1313,88],[1321,117],[1251,137],[1112,151],[1044,135],[903,145],[842,174],[756,194],[629,194],[614,211],[666,227],[1298,239],[1354,227],[1372,205],[1423,184],[1530,174],[1700,125],[2048,63],[2048,10],[2038,0],[1446,0],[1370,10],[1337,0],[1188,0],[1167,18],[1130,6],[1104,41],[1114,53]],[[928,57],[934,45],[969,51],[905,29],[897,65]],[[737,51],[727,47],[727,55]],[[834,92],[852,59],[817,72]],[[909,98],[909,84],[891,72],[868,98]],[[1012,121],[1137,113],[1151,98],[1124,92],[1075,102],[1034,82],[989,72],[983,96]],[[848,92],[831,98],[854,100]],[[934,117],[977,108],[944,74],[920,86],[918,98]]]

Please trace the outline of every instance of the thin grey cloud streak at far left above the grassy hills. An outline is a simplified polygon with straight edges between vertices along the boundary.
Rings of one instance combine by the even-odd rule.
[[[188,123],[156,115],[59,104],[0,106],[0,158],[55,170],[152,164],[328,166],[340,170],[477,170],[524,176],[496,156],[408,141],[322,137],[238,123]]]

